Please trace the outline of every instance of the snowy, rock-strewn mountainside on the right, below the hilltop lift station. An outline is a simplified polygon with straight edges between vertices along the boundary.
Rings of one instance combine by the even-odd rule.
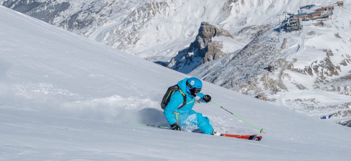
[[[260,26],[248,45],[231,53],[231,62],[221,58],[189,74],[316,118],[349,121],[350,7],[335,7],[324,26],[303,21],[302,31],[280,32],[280,41],[277,26]],[[246,37],[245,30],[234,37]]]

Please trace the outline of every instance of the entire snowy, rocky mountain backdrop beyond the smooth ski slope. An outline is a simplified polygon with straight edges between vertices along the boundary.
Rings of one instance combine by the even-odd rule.
[[[279,21],[288,16],[283,12],[335,2],[0,0],[121,51],[316,118],[337,115],[329,118],[343,123],[351,120],[344,115],[351,108],[350,1],[335,7],[323,27],[304,21],[302,31],[277,35]],[[228,31],[233,39],[213,34],[204,39],[202,22]],[[208,50],[211,46],[216,50]],[[269,66],[273,72],[267,71]]]

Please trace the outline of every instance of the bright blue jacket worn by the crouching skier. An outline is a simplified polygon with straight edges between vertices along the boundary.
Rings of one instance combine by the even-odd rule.
[[[168,123],[170,124],[174,124],[177,122],[176,119],[173,117],[174,112],[184,114],[186,112],[190,112],[194,106],[195,97],[186,92],[186,81],[188,79],[189,78],[185,78],[177,83],[180,91],[174,92],[174,94],[170,98],[170,102],[168,102],[167,106],[165,107],[163,115],[165,115]],[[177,109],[181,104],[183,104],[183,95],[181,94],[181,92],[183,92],[186,95],[186,105],[184,105],[184,107],[180,109]],[[205,95],[202,93],[198,93],[197,96],[203,99]]]

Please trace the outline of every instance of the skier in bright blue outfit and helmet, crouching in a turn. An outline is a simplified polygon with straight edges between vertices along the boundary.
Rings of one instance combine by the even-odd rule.
[[[206,103],[211,101],[211,96],[200,93],[202,88],[201,80],[195,77],[185,78],[180,80],[177,85],[179,86],[179,91],[172,94],[163,112],[171,125],[171,129],[180,131],[180,127],[197,125],[204,134],[220,135],[219,132],[213,130],[208,117],[204,117],[201,113],[192,110],[196,96]],[[184,107],[178,108],[185,100],[184,95],[186,96],[186,104]]]

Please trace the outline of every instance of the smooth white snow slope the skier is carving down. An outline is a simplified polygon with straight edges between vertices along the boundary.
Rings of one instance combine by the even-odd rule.
[[[349,160],[351,128],[204,82],[194,110],[228,134],[172,131],[159,107],[189,77],[0,6],[0,160]],[[128,123],[127,123],[128,122]]]

